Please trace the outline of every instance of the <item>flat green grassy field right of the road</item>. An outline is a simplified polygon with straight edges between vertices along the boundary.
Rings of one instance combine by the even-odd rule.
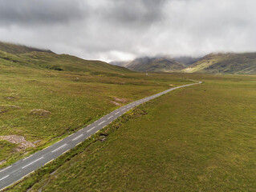
[[[204,83],[138,106],[9,190],[254,191],[256,77],[173,76]]]

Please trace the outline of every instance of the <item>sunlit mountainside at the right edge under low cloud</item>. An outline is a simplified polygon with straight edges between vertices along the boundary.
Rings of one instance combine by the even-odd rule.
[[[183,71],[208,74],[256,74],[256,53],[208,54]]]

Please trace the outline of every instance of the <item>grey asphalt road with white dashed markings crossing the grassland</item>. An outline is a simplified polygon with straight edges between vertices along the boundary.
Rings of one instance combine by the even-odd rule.
[[[193,86],[200,83],[201,82],[197,82],[185,86]],[[113,122],[116,118],[120,117],[122,114],[128,110],[131,110],[135,106],[139,106],[141,103],[148,102],[149,100],[157,98],[162,94],[167,94],[169,91],[177,90],[185,86],[177,86],[169,90],[165,90],[159,94],[154,94],[147,98],[142,98],[136,102],[129,103],[126,106],[122,106],[119,109],[112,111],[110,114],[105,115],[103,118],[91,123],[91,125],[84,127],[82,130],[79,130],[74,134],[71,134],[67,138],[63,138],[46,149],[40,150],[37,153],[30,155],[30,157],[23,158],[18,162],[7,166],[6,168],[0,170],[0,190],[6,186],[10,186],[14,182],[18,182],[18,180],[24,178],[27,174],[32,173],[41,166],[44,166],[48,162],[58,158],[61,154],[67,152],[67,150],[71,150],[73,147],[79,145],[80,142],[83,142],[86,138],[90,137],[92,134],[95,134],[98,130],[102,129],[104,126],[107,126],[109,123]]]

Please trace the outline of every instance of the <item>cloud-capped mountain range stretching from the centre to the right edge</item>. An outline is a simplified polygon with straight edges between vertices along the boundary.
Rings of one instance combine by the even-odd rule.
[[[185,72],[207,74],[255,74],[256,53],[211,53],[202,58],[143,57],[110,62],[139,72]]]

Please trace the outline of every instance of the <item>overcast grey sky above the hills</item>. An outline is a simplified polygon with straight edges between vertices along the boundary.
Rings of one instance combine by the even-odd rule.
[[[104,61],[256,51],[255,0],[0,0],[0,41]]]

